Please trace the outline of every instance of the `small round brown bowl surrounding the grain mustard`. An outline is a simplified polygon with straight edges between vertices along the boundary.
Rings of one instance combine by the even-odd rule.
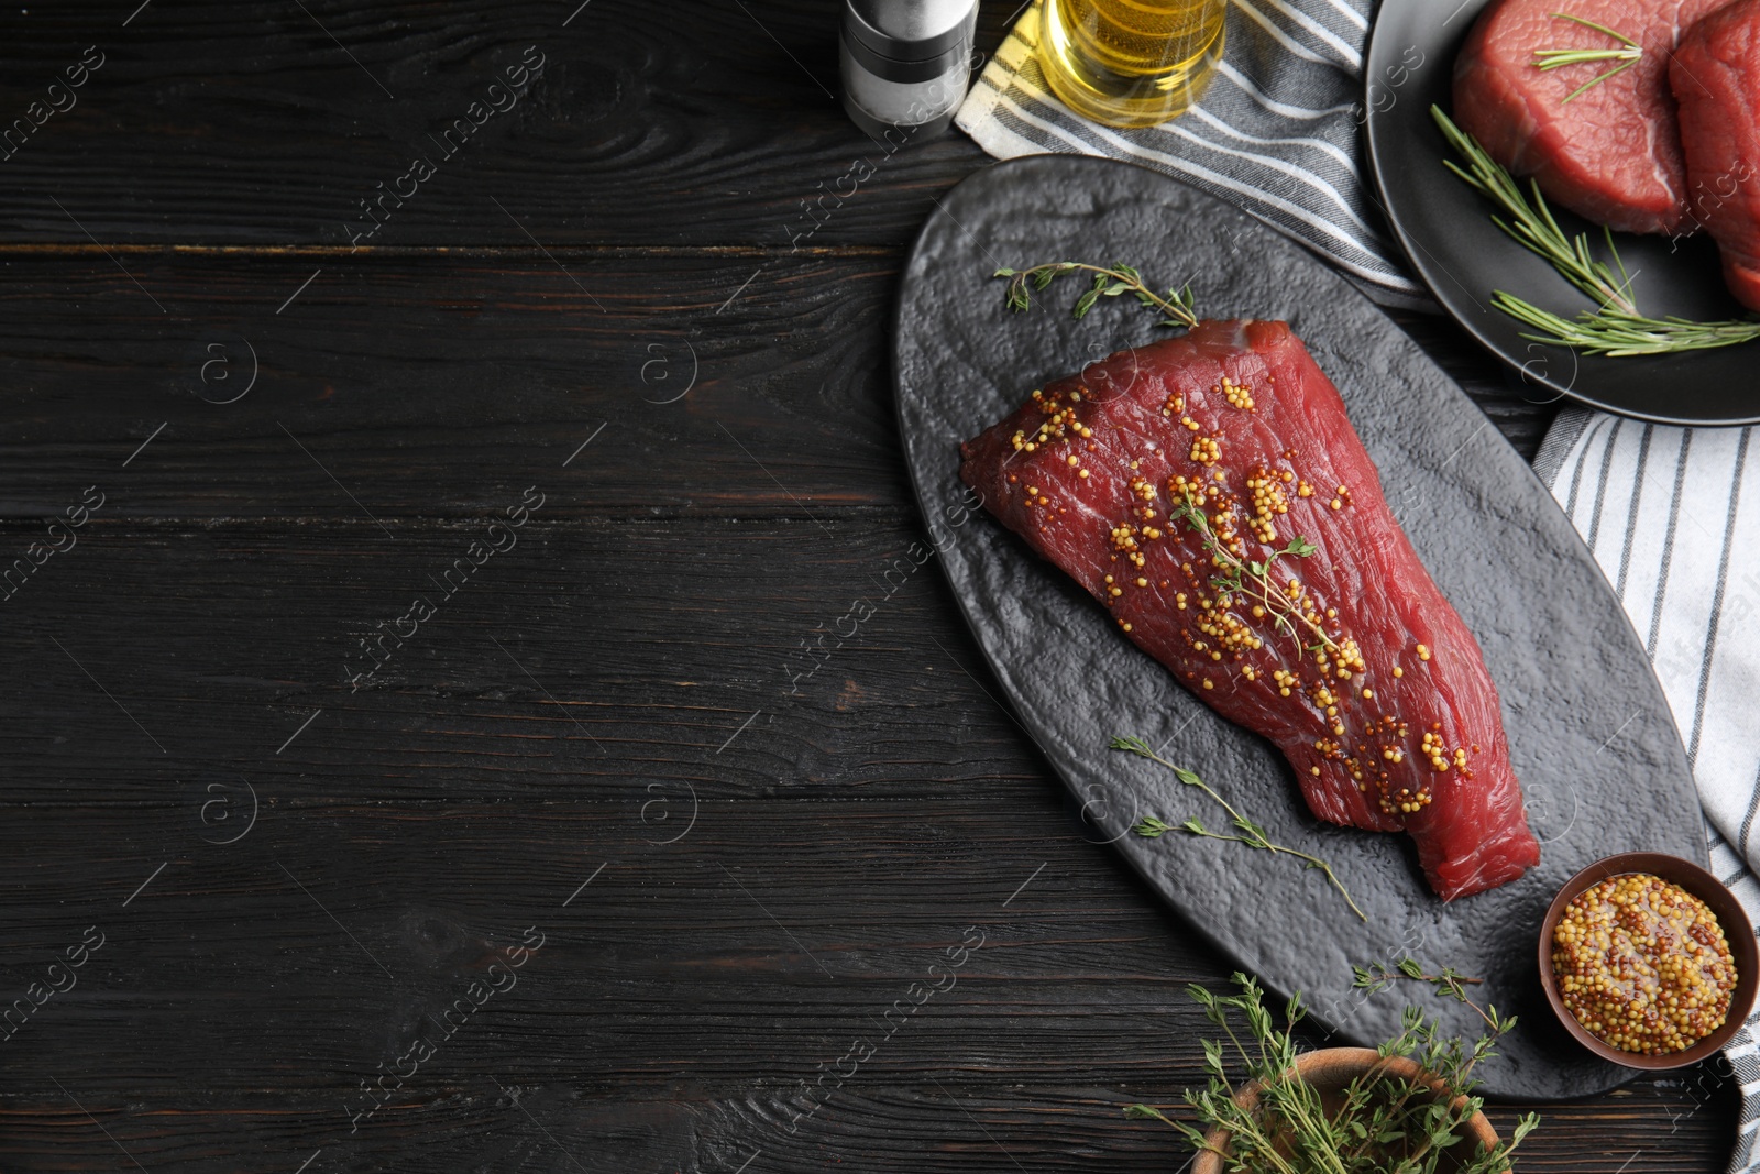
[[[1588,1028],[1577,1023],[1577,1017],[1565,1007],[1565,1000],[1558,991],[1558,979],[1552,975],[1552,931],[1558,929],[1559,917],[1565,915],[1565,908],[1584,889],[1623,873],[1649,873],[1651,877],[1661,877],[1667,882],[1681,885],[1704,901],[1712,914],[1716,914],[1718,924],[1723,926],[1723,936],[1730,943],[1730,958],[1735,959],[1735,993],[1730,996],[1730,1014],[1723,1021],[1721,1028],[1683,1053],[1670,1053],[1667,1056],[1640,1056],[1637,1053],[1621,1051],[1612,1044],[1603,1044],[1591,1035]],[[1607,859],[1589,864],[1586,869],[1566,880],[1565,887],[1558,891],[1556,898],[1552,898],[1552,905],[1545,912],[1545,921],[1540,924],[1538,949],[1540,986],[1545,987],[1545,1002],[1552,1005],[1552,1014],[1558,1016],[1558,1021],[1565,1024],[1565,1030],[1570,1031],[1572,1038],[1579,1044],[1602,1060],[1610,1060],[1612,1063],[1624,1065],[1628,1068],[1684,1068],[1686,1065],[1698,1063],[1700,1060],[1716,1054],[1742,1026],[1748,1019],[1748,1012],[1753,1010],[1755,986],[1756,980],[1760,980],[1760,949],[1756,949],[1755,931],[1748,922],[1748,914],[1742,910],[1741,901],[1735,899],[1735,894],[1723,887],[1721,880],[1707,873],[1698,864],[1683,861],[1677,855],[1667,855],[1663,852],[1621,852],[1619,855],[1609,855]]]

